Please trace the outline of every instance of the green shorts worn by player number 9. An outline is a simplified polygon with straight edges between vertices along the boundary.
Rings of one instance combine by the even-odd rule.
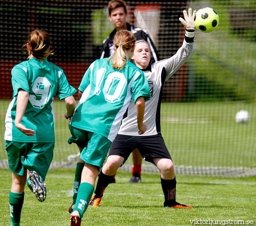
[[[26,169],[36,171],[42,180],[53,159],[54,142],[23,143],[5,141],[9,168],[13,173],[23,176]]]

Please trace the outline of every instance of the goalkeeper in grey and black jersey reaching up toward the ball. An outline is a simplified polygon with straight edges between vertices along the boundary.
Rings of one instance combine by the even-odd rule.
[[[98,183],[89,206],[99,206],[103,192],[117,169],[124,164],[131,152],[138,148],[144,160],[155,164],[161,172],[161,184],[165,197],[163,206],[193,208],[176,202],[176,177],[173,162],[160,132],[160,105],[163,84],[192,54],[195,13],[194,9],[192,14],[191,8],[188,9],[188,13],[186,10],[183,11],[185,20],[182,18],[179,20],[186,28],[185,40],[177,53],[168,59],[150,65],[148,43],[144,40],[136,42],[132,59],[146,75],[152,95],[145,105],[144,123],[147,125],[147,131],[138,135],[136,108],[135,104],[131,102],[128,107],[128,115],[122,120],[118,135],[110,147],[108,160],[99,173]]]

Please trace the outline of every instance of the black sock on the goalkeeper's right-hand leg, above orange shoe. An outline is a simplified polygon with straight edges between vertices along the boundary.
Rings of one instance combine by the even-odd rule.
[[[161,185],[165,196],[163,206],[173,206],[173,204],[176,203],[176,178],[174,177],[172,180],[164,180],[161,178]]]

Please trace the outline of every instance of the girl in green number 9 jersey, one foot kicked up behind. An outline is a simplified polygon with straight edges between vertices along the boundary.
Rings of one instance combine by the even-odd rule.
[[[47,61],[52,55],[47,32],[32,31],[23,45],[28,60],[12,69],[13,99],[5,116],[5,146],[12,171],[10,216],[12,226],[20,225],[27,183],[40,202],[46,198],[44,180],[53,159],[53,96],[64,99],[72,115],[76,90],[68,84],[63,70]]]

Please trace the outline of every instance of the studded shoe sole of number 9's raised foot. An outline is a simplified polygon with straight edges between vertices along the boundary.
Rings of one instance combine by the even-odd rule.
[[[37,199],[40,202],[44,202],[44,200],[46,199],[46,187],[42,178],[37,174],[37,172],[30,171],[29,180],[30,180],[30,185],[33,188],[35,197],[37,197]]]

